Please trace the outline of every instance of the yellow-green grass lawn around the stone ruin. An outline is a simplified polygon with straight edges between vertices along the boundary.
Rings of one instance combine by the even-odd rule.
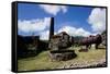
[[[101,47],[101,46],[100,46]],[[54,69],[64,69],[64,66],[76,65],[76,64],[92,64],[100,62],[101,60],[106,61],[106,49],[95,49],[94,47],[89,49],[88,52],[79,52],[79,47],[72,47],[72,50],[75,50],[77,57],[68,61],[54,61],[52,62],[48,57],[48,51],[43,51],[38,55],[33,58],[26,58],[18,60],[18,70],[19,71],[31,71],[31,70],[54,70]]]

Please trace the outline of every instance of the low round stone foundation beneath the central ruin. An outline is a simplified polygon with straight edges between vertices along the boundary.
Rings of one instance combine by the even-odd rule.
[[[52,61],[67,61],[76,57],[74,50],[52,50],[48,54]]]

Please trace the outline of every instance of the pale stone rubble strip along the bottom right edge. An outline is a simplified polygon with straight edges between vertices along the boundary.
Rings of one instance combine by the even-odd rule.
[[[64,64],[62,67],[57,67],[57,69],[80,69],[80,67],[101,67],[101,66],[106,66],[106,59],[101,59],[98,61],[92,61],[91,63],[89,63],[88,61],[81,62],[81,63],[72,63],[72,64]]]

